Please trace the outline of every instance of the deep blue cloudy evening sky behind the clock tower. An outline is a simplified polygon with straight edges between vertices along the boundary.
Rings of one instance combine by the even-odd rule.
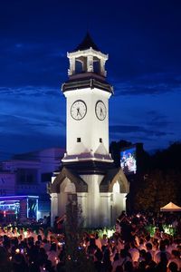
[[[66,53],[109,53],[110,141],[181,140],[181,1],[1,0],[0,160],[65,147]]]

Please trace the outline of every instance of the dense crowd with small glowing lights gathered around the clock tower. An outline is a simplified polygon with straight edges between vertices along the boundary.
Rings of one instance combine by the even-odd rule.
[[[63,224],[65,219],[56,218],[55,223]],[[176,229],[175,236],[165,233],[163,223]],[[155,226],[152,237],[147,228],[150,224]],[[77,250],[91,261],[92,272],[180,272],[180,227],[179,217],[127,216],[123,212],[110,238],[84,231]],[[54,229],[39,228],[37,233],[32,228],[0,228],[0,272],[68,271],[67,235],[56,224]]]

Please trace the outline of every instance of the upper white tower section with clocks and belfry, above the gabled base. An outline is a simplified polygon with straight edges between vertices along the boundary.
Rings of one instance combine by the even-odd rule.
[[[108,54],[101,53],[87,34],[71,53],[69,81],[62,85],[67,100],[67,149],[63,162],[112,161],[109,154],[109,99],[106,82]]]

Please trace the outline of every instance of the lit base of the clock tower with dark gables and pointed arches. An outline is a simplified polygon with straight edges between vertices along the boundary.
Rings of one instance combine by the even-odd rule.
[[[86,228],[111,227],[126,209],[129,182],[123,171],[112,163],[101,163],[101,167],[94,163],[93,168],[89,167],[86,172],[85,164],[66,165],[52,179],[49,185],[52,222],[66,212],[69,199],[81,206]]]

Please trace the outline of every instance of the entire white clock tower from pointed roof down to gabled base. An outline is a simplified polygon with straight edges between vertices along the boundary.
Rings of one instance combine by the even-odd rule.
[[[81,205],[87,227],[110,226],[126,209],[129,183],[109,153],[108,54],[87,34],[71,53],[69,80],[62,84],[67,101],[66,153],[62,170],[49,186],[52,220],[65,211],[69,198]]]

